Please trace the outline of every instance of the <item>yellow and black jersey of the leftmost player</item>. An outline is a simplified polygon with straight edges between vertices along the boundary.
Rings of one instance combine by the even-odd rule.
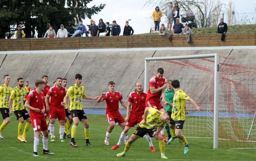
[[[8,108],[8,101],[12,92],[12,87],[3,84],[0,86],[0,108]]]

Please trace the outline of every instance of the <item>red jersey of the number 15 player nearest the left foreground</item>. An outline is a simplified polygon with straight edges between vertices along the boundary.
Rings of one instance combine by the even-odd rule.
[[[40,92],[38,94],[35,90],[32,90],[28,94],[27,101],[29,102],[29,105],[34,108],[38,108],[40,110],[44,109],[44,93],[43,92]],[[30,110],[30,117],[31,119],[44,119],[44,113]]]

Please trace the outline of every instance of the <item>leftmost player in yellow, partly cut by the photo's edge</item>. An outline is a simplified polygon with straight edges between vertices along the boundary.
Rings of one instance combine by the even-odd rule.
[[[4,139],[2,131],[6,125],[11,121],[10,113],[12,114],[12,108],[9,111],[8,101],[12,92],[12,87],[9,86],[10,76],[7,74],[4,76],[4,84],[0,86],[0,112],[3,116],[3,123],[0,126],[0,139]]]

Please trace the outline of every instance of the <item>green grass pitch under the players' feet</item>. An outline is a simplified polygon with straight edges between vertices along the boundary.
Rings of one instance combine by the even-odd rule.
[[[58,124],[55,124],[56,142],[50,142],[48,149],[55,153],[54,156],[43,155],[42,136],[40,139],[38,154],[39,157],[33,157],[33,128],[30,127],[27,135],[28,143],[23,143],[17,140],[17,126],[18,121],[14,115],[11,116],[12,121],[4,129],[2,135],[5,139],[0,139],[0,160],[159,160],[160,150],[158,141],[152,138],[156,152],[149,150],[148,142],[145,138],[140,138],[134,142],[125,157],[116,157],[117,153],[124,150],[124,144],[117,150],[111,150],[119,139],[121,128],[115,127],[110,139],[109,146],[104,144],[106,129],[108,122],[105,115],[87,115],[90,124],[90,142],[92,147],[85,146],[84,127],[79,123],[76,132],[77,148],[69,145],[70,139],[65,139],[65,142],[57,142]],[[2,122],[2,117],[0,119]],[[23,125],[24,128],[25,125]],[[129,136],[135,128],[131,128]],[[69,132],[71,129],[69,129]],[[228,150],[228,149],[212,149],[212,139],[193,139],[187,138],[190,142],[190,151],[187,155],[183,154],[184,146],[175,140],[170,145],[165,144],[165,156],[169,160],[255,160],[255,149],[241,149],[241,150]],[[221,142],[221,141],[220,141]]]

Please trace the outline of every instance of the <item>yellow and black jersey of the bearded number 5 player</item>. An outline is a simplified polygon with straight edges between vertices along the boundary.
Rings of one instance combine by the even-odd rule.
[[[24,109],[24,97],[26,94],[28,94],[27,88],[21,88],[18,87],[13,88],[10,98],[13,99],[12,102],[12,110],[23,110]]]

